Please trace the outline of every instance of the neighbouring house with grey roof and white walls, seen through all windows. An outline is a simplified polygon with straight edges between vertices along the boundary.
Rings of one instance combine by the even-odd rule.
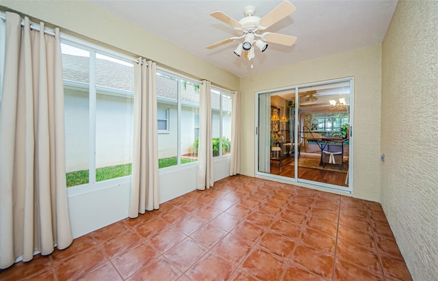
[[[66,172],[89,163],[89,57],[62,55],[66,123]],[[96,57],[96,168],[131,163],[133,144],[133,67]],[[157,73],[158,157],[178,153],[178,83]],[[194,152],[199,133],[199,92],[181,83],[181,155]],[[211,91],[212,136],[220,136],[220,95]],[[222,132],[231,139],[231,98],[222,98]]]

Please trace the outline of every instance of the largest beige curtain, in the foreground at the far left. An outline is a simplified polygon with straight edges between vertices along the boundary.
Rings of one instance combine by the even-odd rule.
[[[44,30],[41,23],[40,29]],[[0,268],[73,241],[68,217],[60,31],[6,13],[0,107]]]

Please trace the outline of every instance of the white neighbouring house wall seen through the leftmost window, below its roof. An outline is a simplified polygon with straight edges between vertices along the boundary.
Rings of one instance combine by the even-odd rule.
[[[88,92],[64,90],[66,172],[89,168]],[[96,95],[96,168],[132,162],[133,96]]]

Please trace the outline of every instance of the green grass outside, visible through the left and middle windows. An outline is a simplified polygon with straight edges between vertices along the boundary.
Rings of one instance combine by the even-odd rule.
[[[166,168],[177,165],[177,161],[177,157],[158,159],[158,168]],[[194,161],[196,161],[196,159],[181,158],[181,164],[191,163]],[[131,168],[131,163],[98,168],[96,169],[96,181],[110,180],[112,178],[129,176],[131,174]],[[88,177],[88,170],[68,172],[66,173],[67,187],[74,187],[76,185],[86,184],[88,183]]]

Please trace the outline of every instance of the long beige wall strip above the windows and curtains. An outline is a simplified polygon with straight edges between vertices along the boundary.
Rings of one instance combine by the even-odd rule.
[[[0,0],[0,5],[4,6],[2,10],[16,10],[48,25],[60,27],[62,32],[85,36],[87,40],[107,44],[113,49],[115,47],[134,55],[142,55],[161,66],[196,79],[207,79],[222,88],[239,90],[239,78],[235,75],[88,1]]]

